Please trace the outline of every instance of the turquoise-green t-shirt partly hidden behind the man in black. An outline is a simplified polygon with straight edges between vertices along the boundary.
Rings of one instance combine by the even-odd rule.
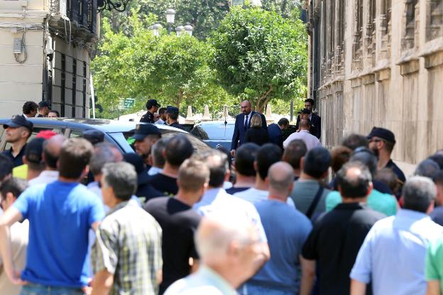
[[[338,191],[332,191],[326,198],[326,210],[330,211],[334,209],[339,203],[341,203],[340,193]],[[395,200],[393,195],[372,190],[368,196],[368,207],[386,216],[392,216],[397,213],[397,200]]]

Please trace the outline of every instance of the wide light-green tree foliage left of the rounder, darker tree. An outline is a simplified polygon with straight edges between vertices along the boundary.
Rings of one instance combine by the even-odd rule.
[[[153,23],[155,18],[148,16]],[[159,37],[132,14],[125,32],[114,33],[104,21],[100,55],[92,61],[94,86],[102,117],[116,117],[119,99],[136,98],[133,110],[143,109],[146,100],[155,98],[162,105],[187,105],[202,112],[204,104],[222,109],[232,97],[214,84],[214,71],[207,61],[211,49],[203,41],[187,35],[180,37],[163,30]]]

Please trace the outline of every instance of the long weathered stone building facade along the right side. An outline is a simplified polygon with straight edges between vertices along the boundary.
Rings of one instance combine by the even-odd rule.
[[[395,133],[406,171],[443,149],[443,0],[309,0],[310,95],[322,141]],[[409,169],[408,169],[409,168]]]

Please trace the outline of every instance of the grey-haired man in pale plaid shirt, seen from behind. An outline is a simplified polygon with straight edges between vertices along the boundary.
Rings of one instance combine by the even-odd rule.
[[[92,247],[92,294],[158,294],[161,280],[161,228],[130,200],[137,174],[129,163],[103,168],[103,202],[109,206]]]

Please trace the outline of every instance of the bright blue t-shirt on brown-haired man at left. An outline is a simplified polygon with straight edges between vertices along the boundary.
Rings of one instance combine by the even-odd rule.
[[[80,183],[55,181],[26,189],[13,207],[29,220],[21,278],[45,286],[87,286],[88,231],[104,218],[99,198]]]

